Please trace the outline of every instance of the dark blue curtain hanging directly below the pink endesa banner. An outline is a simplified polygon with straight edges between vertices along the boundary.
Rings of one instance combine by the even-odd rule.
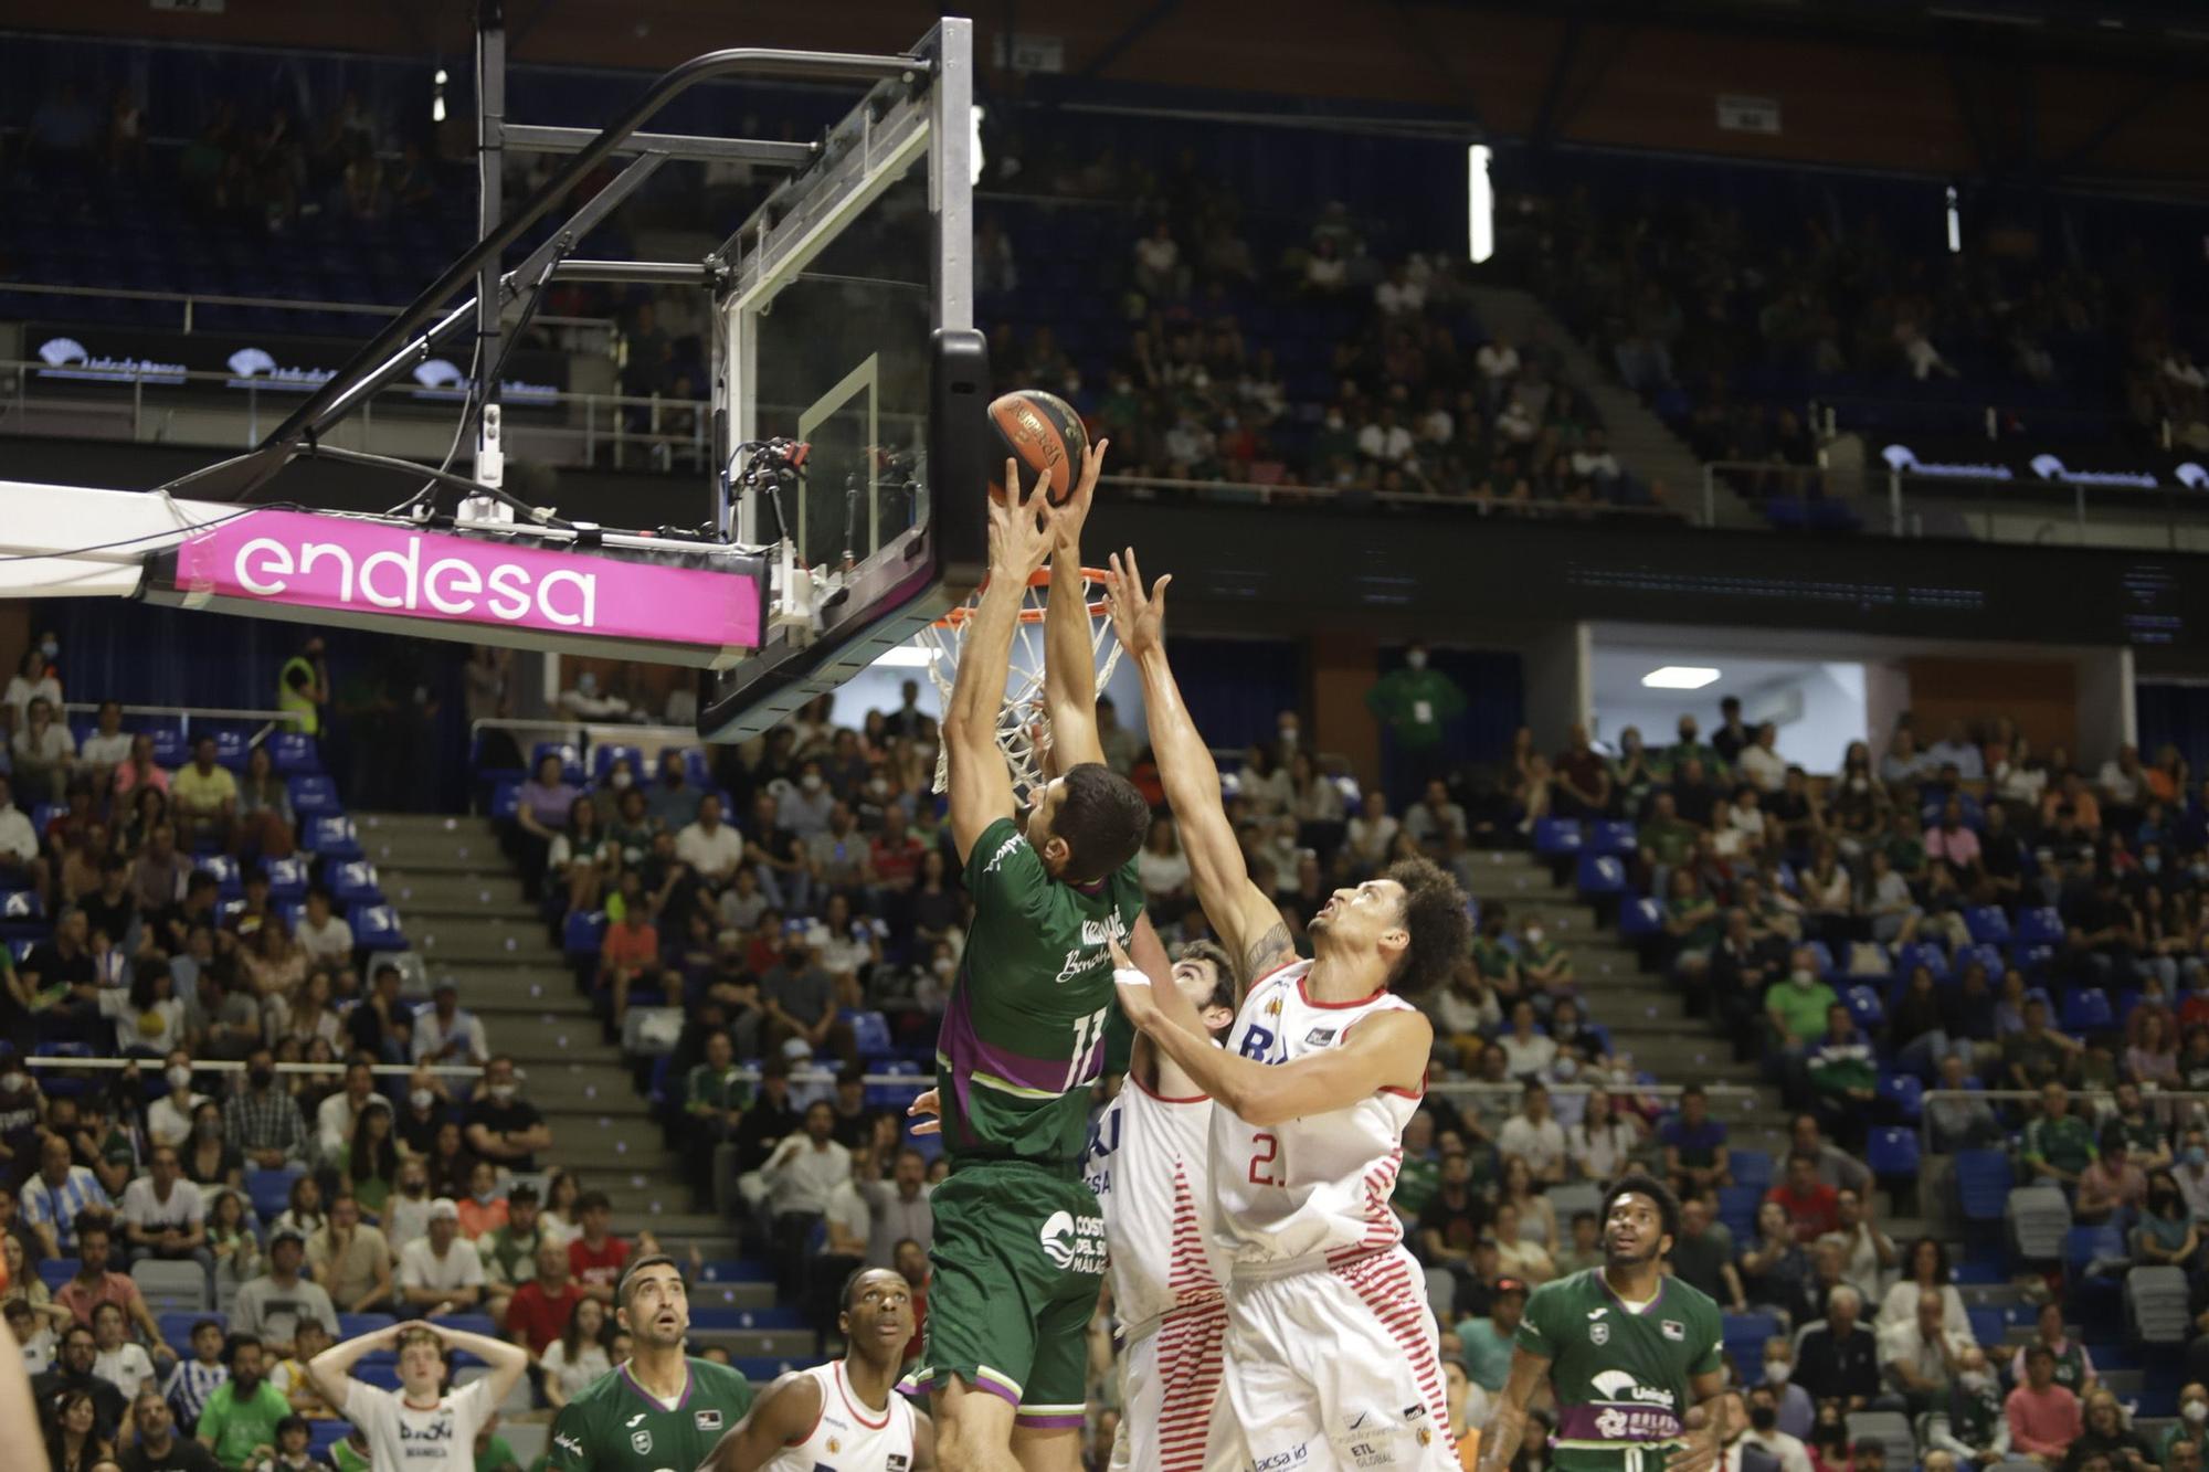
[[[309,634],[329,650],[323,765],[353,811],[464,811],[468,645],[119,599],[42,599],[71,701],[276,709],[276,672]]]

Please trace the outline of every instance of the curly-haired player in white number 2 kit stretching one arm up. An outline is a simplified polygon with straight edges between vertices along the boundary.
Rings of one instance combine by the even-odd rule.
[[[1164,648],[1164,588],[1113,559],[1113,628],[1142,672],[1151,749],[1204,915],[1250,990],[1215,1048],[1180,988],[1122,970],[1120,1003],[1215,1101],[1211,1174],[1230,1253],[1228,1445],[1257,1468],[1456,1468],[1425,1273],[1389,1211],[1434,1028],[1398,990],[1447,979],[1465,893],[1412,860],[1336,891],[1299,961],[1244,866]]]

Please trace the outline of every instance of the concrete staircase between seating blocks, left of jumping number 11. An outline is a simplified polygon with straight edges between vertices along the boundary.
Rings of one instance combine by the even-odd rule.
[[[687,1171],[667,1149],[636,1074],[607,1043],[574,970],[546,933],[486,818],[362,813],[360,847],[431,981],[459,988],[493,1052],[512,1054],[521,1096],[552,1127],[541,1169],[577,1171],[605,1191],[614,1231],[649,1229],[660,1247],[705,1260],[691,1293],[698,1344],[720,1344],[747,1373],[811,1364],[817,1344],[795,1311],[778,1308],[773,1271],[742,1258],[736,1224],[691,1211]]]

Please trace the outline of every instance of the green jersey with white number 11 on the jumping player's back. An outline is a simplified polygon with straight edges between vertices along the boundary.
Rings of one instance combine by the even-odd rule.
[[[1032,1160],[1078,1171],[1089,1085],[1113,1017],[1111,950],[1142,915],[1135,862],[1063,884],[998,818],[968,853],[968,930],[937,1037],[943,1145],[952,1160]]]

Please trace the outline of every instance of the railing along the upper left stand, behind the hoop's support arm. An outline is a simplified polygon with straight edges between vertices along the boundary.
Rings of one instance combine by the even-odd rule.
[[[194,369],[168,371],[146,365],[128,369],[68,367],[66,391],[51,391],[53,365],[29,358],[0,360],[0,431],[68,435],[82,440],[161,440],[166,444],[256,446],[263,411],[283,418],[305,393],[296,385],[243,387],[236,374]],[[93,396],[97,385],[113,393]],[[128,389],[128,398],[121,391]],[[197,398],[194,398],[197,391]],[[150,393],[150,398],[148,398]],[[420,398],[415,382],[378,389],[353,420],[360,449],[387,455],[442,460],[453,438],[457,396]],[[376,404],[384,411],[378,413]],[[517,413],[519,409],[519,413]],[[535,418],[530,409],[554,409]],[[596,466],[601,451],[612,469],[705,471],[711,404],[658,393],[554,391],[528,400],[508,398],[506,444],[510,458],[559,466]]]

